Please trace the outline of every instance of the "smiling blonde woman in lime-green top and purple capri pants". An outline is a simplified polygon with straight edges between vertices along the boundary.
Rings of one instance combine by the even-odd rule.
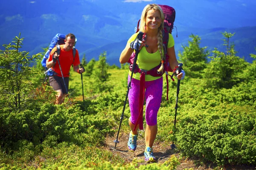
[[[164,14],[160,6],[157,4],[148,4],[143,9],[140,20],[140,31],[145,33],[145,42],[136,39],[137,34],[133,34],[127,42],[125,49],[122,51],[119,61],[120,63],[128,62],[134,50],[140,50],[137,57],[137,65],[140,69],[151,70],[158,65],[161,67],[158,71],[164,71],[164,49],[163,49],[163,26]],[[146,47],[148,46],[148,47]],[[175,55],[174,40],[172,34],[169,34],[169,42],[167,46],[167,54],[169,55],[169,63],[172,69],[176,69],[178,62]],[[176,72],[177,73],[177,72]],[[137,130],[138,127],[143,127],[140,122],[137,126],[137,120],[140,119],[139,113],[139,97],[140,97],[140,73],[134,73],[131,79],[131,71],[129,71],[128,82],[131,79],[131,89],[128,94],[131,117],[129,125],[131,127],[130,137],[128,139],[128,150],[135,151],[137,147]],[[178,79],[183,79],[185,72],[183,70],[176,74]],[[153,77],[149,74],[145,75],[145,161],[156,162],[157,159],[153,155],[153,143],[157,135],[157,112],[160,108],[163,92],[163,77]],[[144,96],[143,96],[144,97]],[[143,99],[144,101],[144,99]],[[136,125],[137,124],[137,125]],[[141,125],[142,124],[142,125]],[[140,128],[141,129],[141,128]],[[143,128],[142,128],[143,129]]]

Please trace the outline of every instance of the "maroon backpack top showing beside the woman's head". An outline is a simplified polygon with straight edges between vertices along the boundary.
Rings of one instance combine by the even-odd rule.
[[[167,5],[158,5],[162,8],[164,14],[164,29],[166,32],[172,34],[173,23],[175,21],[175,9]]]

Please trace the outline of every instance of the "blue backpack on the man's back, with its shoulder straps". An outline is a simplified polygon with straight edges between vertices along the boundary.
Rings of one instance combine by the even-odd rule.
[[[44,74],[46,74],[48,76],[52,76],[53,75],[53,71],[51,68],[47,68],[46,66],[46,61],[49,58],[49,55],[51,54],[52,48],[54,48],[57,45],[57,53],[58,55],[60,54],[60,46],[62,44],[65,44],[64,40],[65,40],[66,35],[64,34],[56,34],[53,38],[52,38],[52,42],[49,45],[49,48],[47,50],[47,52],[44,54],[44,57],[41,61],[41,65],[45,68],[45,72]],[[73,57],[75,59],[76,56],[76,48],[73,47]]]

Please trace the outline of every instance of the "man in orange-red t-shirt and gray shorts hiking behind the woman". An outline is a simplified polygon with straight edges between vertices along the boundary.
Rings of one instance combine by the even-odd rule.
[[[80,59],[77,49],[76,55],[75,57],[73,57],[73,47],[76,42],[75,35],[71,33],[67,34],[64,42],[65,44],[59,45],[59,54],[57,53],[57,47],[55,46],[52,49],[51,54],[49,55],[49,58],[46,62],[47,68],[52,68],[53,71],[53,75],[49,76],[49,83],[50,86],[52,86],[52,88],[57,92],[55,104],[61,104],[62,102],[64,102],[65,94],[68,94],[70,75],[69,72],[71,65],[73,64],[74,71],[76,71],[77,73],[81,74],[84,72],[84,68],[79,68]]]

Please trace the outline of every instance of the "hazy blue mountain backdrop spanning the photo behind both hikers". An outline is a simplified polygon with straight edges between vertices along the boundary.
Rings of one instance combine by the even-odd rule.
[[[175,50],[182,51],[189,35],[201,37],[201,46],[224,49],[221,32],[236,33],[231,42],[239,57],[252,62],[256,47],[255,0],[9,0],[0,2],[0,43],[21,33],[23,50],[43,52],[57,33],[72,32],[80,58],[97,59],[107,51],[107,61],[119,65],[119,55],[146,4],[175,8]],[[177,35],[177,37],[176,37]],[[0,49],[3,49],[1,47]]]

